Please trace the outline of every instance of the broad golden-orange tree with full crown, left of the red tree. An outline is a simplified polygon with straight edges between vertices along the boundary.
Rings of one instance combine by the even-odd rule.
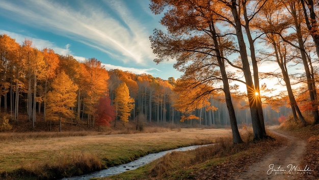
[[[62,115],[73,117],[71,107],[75,106],[77,85],[62,71],[51,84],[52,91],[47,93],[47,113],[50,119],[59,119],[61,132]]]

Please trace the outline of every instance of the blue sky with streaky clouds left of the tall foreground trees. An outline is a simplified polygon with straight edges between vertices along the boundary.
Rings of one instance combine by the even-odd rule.
[[[156,65],[149,36],[163,29],[148,0],[0,0],[0,34],[33,41],[78,61],[95,57],[106,69],[168,79],[182,73],[172,62]]]

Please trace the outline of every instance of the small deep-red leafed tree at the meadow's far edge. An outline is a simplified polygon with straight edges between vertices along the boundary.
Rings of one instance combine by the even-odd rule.
[[[111,105],[109,97],[99,99],[96,117],[97,121],[95,123],[99,128],[100,126],[110,126],[110,121],[115,119],[115,109]]]

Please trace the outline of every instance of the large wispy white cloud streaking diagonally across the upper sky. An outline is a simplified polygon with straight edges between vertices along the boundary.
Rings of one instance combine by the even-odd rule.
[[[21,23],[85,43],[117,56],[124,63],[150,63],[154,55],[149,34],[132,18],[130,9],[121,1],[105,1],[105,5],[117,12],[115,17],[95,3],[77,1],[80,11],[57,1],[3,1],[0,9],[10,12],[9,16]]]

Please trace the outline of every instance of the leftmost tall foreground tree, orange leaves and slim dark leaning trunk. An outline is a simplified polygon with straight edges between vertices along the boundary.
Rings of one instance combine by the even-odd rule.
[[[169,58],[176,58],[177,63],[175,63],[174,68],[185,72],[185,74],[193,74],[198,71],[198,76],[196,76],[200,78],[197,79],[198,82],[206,86],[211,86],[216,81],[222,82],[223,88],[221,89],[225,93],[229,116],[231,117],[233,142],[241,143],[242,139],[238,132],[231,102],[225,65],[227,55],[234,49],[234,45],[231,39],[224,38],[225,36],[220,34],[221,30],[218,29],[217,25],[220,22],[220,17],[214,13],[220,11],[223,4],[217,4],[216,1],[172,0],[151,2],[150,8],[155,14],[162,13],[168,8],[168,12],[161,20],[161,23],[167,27],[168,33],[165,34],[161,30],[155,29],[153,36],[150,37],[153,52],[157,55],[154,62],[159,63]],[[229,63],[229,61],[227,62]],[[219,73],[216,73],[216,69],[219,69]],[[251,80],[251,76],[249,80]],[[252,80],[249,82],[251,82],[249,86],[254,89]],[[211,91],[203,94],[209,93]],[[258,116],[258,113],[254,115]],[[256,119],[259,121],[258,117]],[[258,137],[261,136],[258,135]]]

